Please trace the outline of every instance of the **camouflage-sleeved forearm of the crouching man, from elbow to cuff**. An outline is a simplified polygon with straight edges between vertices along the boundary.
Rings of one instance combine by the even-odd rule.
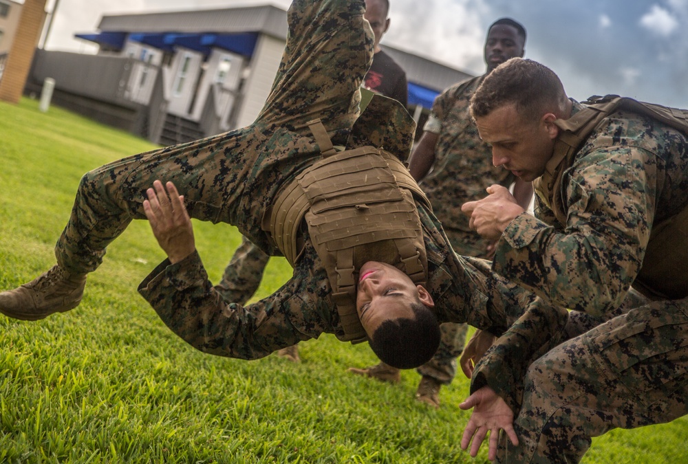
[[[640,261],[594,228],[559,232],[519,214],[497,243],[493,270],[554,305],[601,314],[619,306]]]

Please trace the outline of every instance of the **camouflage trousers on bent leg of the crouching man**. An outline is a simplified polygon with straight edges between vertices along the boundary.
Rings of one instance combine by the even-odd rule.
[[[577,463],[591,437],[686,415],[688,298],[645,300],[559,344],[530,364],[524,387],[519,445],[502,434],[499,462]]]

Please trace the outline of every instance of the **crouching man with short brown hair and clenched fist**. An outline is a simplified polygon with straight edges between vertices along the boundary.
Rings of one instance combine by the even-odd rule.
[[[490,98],[495,94],[502,100]],[[509,104],[514,101],[519,110]],[[620,107],[559,162],[552,153],[570,135],[558,124],[573,121],[584,105],[566,98],[557,76],[529,60],[497,68],[472,104],[480,134],[493,144],[495,164],[524,179],[539,177],[536,217],[515,209],[486,219],[513,207],[504,191],[466,206],[478,232],[503,232],[493,270],[539,296],[473,374],[473,399],[493,398],[491,388],[516,417],[519,444],[502,433],[497,461],[578,462],[591,437],[685,415],[688,288],[674,285],[672,298],[660,293],[668,293],[662,286],[671,287],[671,281],[685,286],[686,261],[675,260],[664,270],[665,282],[649,286],[641,269],[670,260],[666,250],[685,254],[686,133]],[[686,118],[688,111],[682,114]],[[507,124],[518,118],[520,124]],[[667,219],[679,221],[681,212],[683,232],[672,234],[664,256],[649,254],[657,243],[651,234]],[[571,320],[550,338],[566,313],[562,307],[573,310]],[[535,308],[537,315],[530,312]],[[464,408],[475,406],[471,398],[467,403]],[[475,448],[486,430],[508,431],[508,424],[495,422],[497,411],[504,412],[476,406],[464,448],[473,433]]]

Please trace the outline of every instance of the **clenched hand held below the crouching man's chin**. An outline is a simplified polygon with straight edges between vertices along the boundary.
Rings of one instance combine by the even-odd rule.
[[[511,221],[524,212],[508,188],[497,184],[487,188],[488,196],[482,200],[467,201],[462,212],[470,217],[469,227],[490,240],[499,240]]]

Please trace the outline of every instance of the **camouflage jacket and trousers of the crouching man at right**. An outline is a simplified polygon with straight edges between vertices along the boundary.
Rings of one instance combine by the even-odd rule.
[[[688,202],[687,137],[618,111],[580,148],[564,186],[566,224],[537,201],[537,219],[517,217],[495,254],[493,269],[541,297],[539,315],[529,309],[497,340],[471,385],[488,384],[517,414],[522,442],[500,442],[502,462],[578,462],[590,437],[688,412],[688,299],[630,291],[652,225]],[[545,316],[547,305],[587,315],[572,312],[572,330]]]

